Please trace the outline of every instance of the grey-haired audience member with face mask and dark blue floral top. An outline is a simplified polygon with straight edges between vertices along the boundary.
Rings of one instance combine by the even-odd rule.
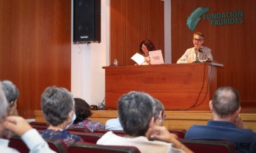
[[[83,141],[78,135],[71,135],[66,129],[76,119],[73,95],[65,88],[51,86],[41,96],[43,116],[49,127],[41,134],[43,138],[62,139],[67,146]]]

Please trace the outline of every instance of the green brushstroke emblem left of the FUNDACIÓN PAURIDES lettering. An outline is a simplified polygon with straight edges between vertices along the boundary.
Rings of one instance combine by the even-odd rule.
[[[209,7],[198,7],[189,15],[188,19],[186,20],[186,26],[188,26],[191,31],[194,31],[194,29],[197,27],[197,23],[199,23],[201,20],[200,17],[208,11]]]

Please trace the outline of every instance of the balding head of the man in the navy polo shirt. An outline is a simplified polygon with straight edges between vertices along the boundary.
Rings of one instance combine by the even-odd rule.
[[[230,86],[223,86],[216,90],[210,101],[210,108],[220,119],[232,116],[240,112],[240,95]]]

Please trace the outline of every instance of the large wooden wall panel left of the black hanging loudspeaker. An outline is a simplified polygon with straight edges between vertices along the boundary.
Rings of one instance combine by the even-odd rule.
[[[70,90],[71,1],[0,0],[0,79],[20,90],[18,111],[40,110],[47,86]]]

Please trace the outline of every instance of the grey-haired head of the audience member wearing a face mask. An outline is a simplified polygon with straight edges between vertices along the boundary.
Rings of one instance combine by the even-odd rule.
[[[50,86],[41,96],[43,116],[53,126],[63,123],[66,126],[72,121],[74,104],[73,95],[65,88]]]

